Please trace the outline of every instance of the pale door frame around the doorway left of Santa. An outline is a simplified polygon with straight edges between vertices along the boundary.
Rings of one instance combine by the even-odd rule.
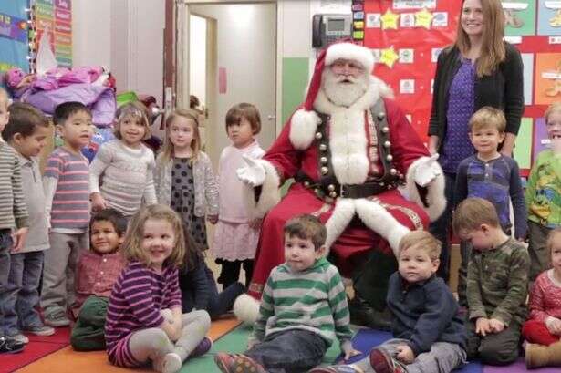
[[[173,1],[173,0],[168,0]],[[281,0],[282,1],[282,0]],[[176,0],[175,16],[172,21],[175,26],[175,42],[173,46],[175,56],[175,66],[172,74],[174,81],[174,105],[181,108],[189,108],[189,37],[187,32],[189,30],[189,16],[191,16],[191,5],[228,5],[228,4],[275,4],[276,6],[276,63],[275,63],[275,132],[278,134],[282,128],[279,120],[282,118],[282,30],[283,30],[283,14],[282,6],[278,5],[277,0]],[[196,13],[194,13],[196,15]],[[168,19],[166,17],[166,26]],[[164,46],[164,48],[167,48]],[[167,76],[167,74],[166,74]],[[207,78],[215,81],[215,77]],[[212,86],[209,86],[212,87]]]

